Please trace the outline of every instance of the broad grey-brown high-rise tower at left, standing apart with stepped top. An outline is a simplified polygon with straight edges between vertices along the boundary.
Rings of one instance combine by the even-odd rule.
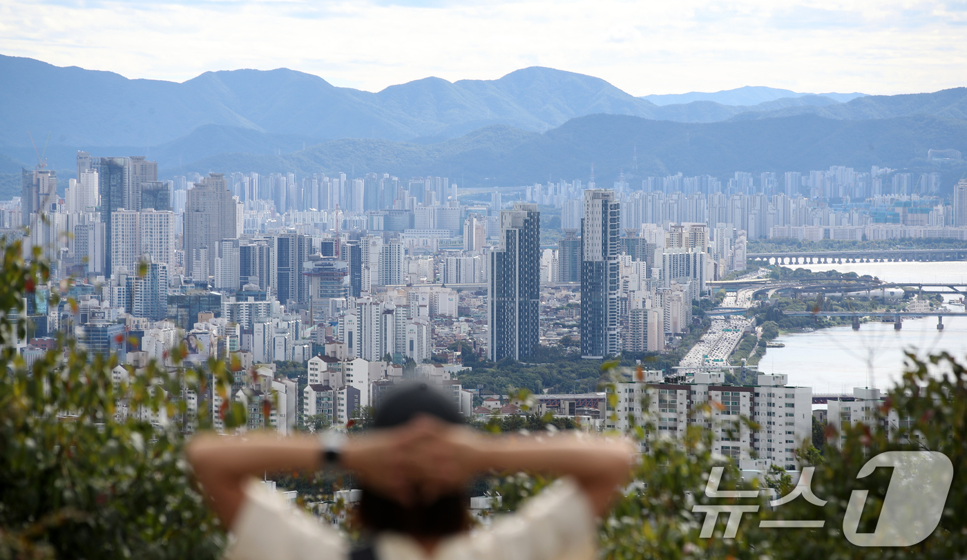
[[[194,261],[207,249],[208,270],[215,270],[216,245],[238,237],[238,205],[222,173],[209,173],[190,189],[185,200],[185,267],[194,276]]]

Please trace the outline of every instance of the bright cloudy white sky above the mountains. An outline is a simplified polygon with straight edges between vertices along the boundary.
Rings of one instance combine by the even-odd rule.
[[[379,91],[529,66],[635,95],[967,85],[967,1],[0,0],[0,54],[130,78],[290,68]]]

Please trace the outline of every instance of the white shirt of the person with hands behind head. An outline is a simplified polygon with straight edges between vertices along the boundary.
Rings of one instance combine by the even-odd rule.
[[[246,488],[227,557],[233,560],[347,560],[339,532],[304,511],[293,511],[257,481]],[[577,560],[595,557],[596,522],[584,492],[564,479],[529,499],[489,529],[461,533],[431,556],[405,535],[376,538],[377,560]]]

